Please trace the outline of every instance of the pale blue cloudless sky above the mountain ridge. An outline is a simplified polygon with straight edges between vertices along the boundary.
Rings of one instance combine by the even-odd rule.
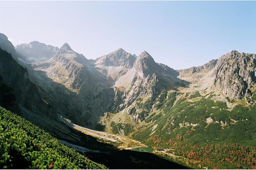
[[[256,53],[256,1],[0,1],[14,46],[67,42],[87,59],[118,48],[174,69],[237,50]]]

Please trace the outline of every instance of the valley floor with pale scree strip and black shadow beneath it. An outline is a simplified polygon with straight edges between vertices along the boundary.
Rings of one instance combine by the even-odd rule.
[[[90,160],[110,169],[187,169],[160,152],[136,152],[146,145],[129,137],[95,131],[72,124],[59,116],[59,123],[40,117],[23,108],[23,116],[47,130],[58,141],[74,148]],[[178,161],[177,161],[178,162]]]

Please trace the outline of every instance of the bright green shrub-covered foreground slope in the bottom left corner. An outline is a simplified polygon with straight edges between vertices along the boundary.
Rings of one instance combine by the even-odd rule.
[[[0,168],[105,169],[0,107]]]

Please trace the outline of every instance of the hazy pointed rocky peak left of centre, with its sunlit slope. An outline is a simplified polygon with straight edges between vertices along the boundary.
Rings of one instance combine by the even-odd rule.
[[[65,43],[59,52],[49,60],[32,64],[35,70],[45,71],[54,82],[65,85],[77,93],[98,92],[97,89],[110,87],[110,83],[89,60],[74,52]]]

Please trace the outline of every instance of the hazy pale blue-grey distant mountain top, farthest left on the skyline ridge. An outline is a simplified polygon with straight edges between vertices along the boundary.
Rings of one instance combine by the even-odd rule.
[[[59,48],[33,41],[29,44],[23,43],[17,45],[15,46],[15,50],[20,60],[26,63],[32,63],[52,58],[59,51]]]

